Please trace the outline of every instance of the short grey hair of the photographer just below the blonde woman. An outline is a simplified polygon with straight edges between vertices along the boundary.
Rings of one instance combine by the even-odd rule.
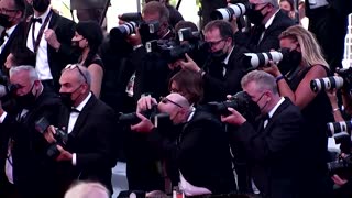
[[[241,86],[245,87],[248,84],[254,81],[260,91],[271,90],[274,95],[278,94],[276,79],[273,75],[263,70],[252,70],[241,79]]]

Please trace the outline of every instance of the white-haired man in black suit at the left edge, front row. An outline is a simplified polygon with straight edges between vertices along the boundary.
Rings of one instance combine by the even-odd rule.
[[[44,91],[32,66],[11,68],[10,81],[18,88],[13,92],[15,106],[6,111],[0,107],[0,197],[57,197],[54,164],[35,122],[44,117],[55,124],[61,100]]]

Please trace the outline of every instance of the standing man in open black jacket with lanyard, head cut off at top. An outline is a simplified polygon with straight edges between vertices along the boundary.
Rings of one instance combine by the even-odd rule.
[[[78,54],[72,51],[75,23],[58,15],[50,3],[51,0],[32,0],[34,15],[26,25],[25,46],[36,54],[35,69],[43,85],[57,91],[61,70],[77,63]]]

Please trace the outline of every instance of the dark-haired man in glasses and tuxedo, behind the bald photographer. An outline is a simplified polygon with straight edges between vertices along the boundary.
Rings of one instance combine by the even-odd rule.
[[[241,90],[240,79],[250,65],[244,63],[246,52],[232,38],[233,31],[227,21],[216,20],[205,28],[205,41],[210,46],[210,56],[206,64],[198,66],[188,55],[187,62],[179,62],[184,69],[201,74],[205,81],[204,102],[222,101],[227,94]]]

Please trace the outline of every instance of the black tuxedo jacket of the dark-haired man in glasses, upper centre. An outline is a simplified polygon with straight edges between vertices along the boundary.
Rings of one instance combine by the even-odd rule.
[[[245,75],[250,65],[245,63],[248,51],[243,47],[234,46],[226,66],[226,75],[223,76],[223,64],[212,62],[206,63],[204,70],[204,102],[223,101],[229,94],[241,91],[241,78]]]

